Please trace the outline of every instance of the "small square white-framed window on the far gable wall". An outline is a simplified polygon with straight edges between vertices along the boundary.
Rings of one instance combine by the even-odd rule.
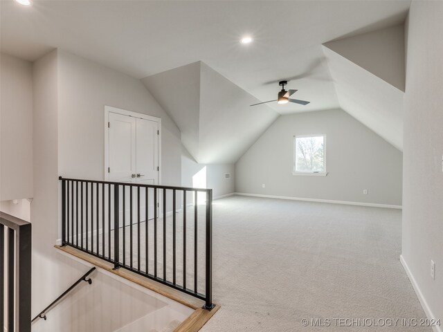
[[[325,135],[293,137],[293,174],[326,175]]]

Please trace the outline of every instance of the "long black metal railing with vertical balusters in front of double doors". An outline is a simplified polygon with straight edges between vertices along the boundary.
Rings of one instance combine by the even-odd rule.
[[[60,181],[62,246],[203,299],[204,308],[213,308],[212,190]]]

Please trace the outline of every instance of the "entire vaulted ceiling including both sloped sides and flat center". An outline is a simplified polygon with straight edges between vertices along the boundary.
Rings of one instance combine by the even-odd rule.
[[[401,26],[371,33],[403,24],[409,6],[409,0],[33,1],[24,8],[1,1],[0,46],[30,61],[62,48],[143,79],[204,163],[235,161],[278,114],[338,107],[401,149],[404,77],[395,68],[404,64],[398,47],[381,52],[392,38],[399,45]],[[244,35],[253,43],[240,44]],[[374,45],[372,53],[366,44]],[[180,70],[192,79],[174,78]],[[251,100],[275,99],[282,79],[298,89],[295,98],[311,103],[249,108]],[[198,97],[185,100],[177,91],[165,98],[161,80]],[[215,130],[217,124],[226,130]],[[217,144],[219,156],[206,142]]]

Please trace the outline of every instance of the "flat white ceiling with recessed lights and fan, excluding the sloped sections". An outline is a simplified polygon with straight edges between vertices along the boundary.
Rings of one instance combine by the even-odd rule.
[[[137,78],[203,61],[257,99],[287,77],[303,107],[339,107],[321,44],[404,21],[410,1],[1,1],[1,51],[33,61],[52,48]],[[239,44],[249,34],[253,44]]]

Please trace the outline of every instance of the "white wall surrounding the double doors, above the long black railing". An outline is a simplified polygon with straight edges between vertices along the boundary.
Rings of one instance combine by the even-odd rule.
[[[161,118],[162,184],[181,183],[181,136],[140,80],[59,51],[59,174],[104,179],[105,105]]]

